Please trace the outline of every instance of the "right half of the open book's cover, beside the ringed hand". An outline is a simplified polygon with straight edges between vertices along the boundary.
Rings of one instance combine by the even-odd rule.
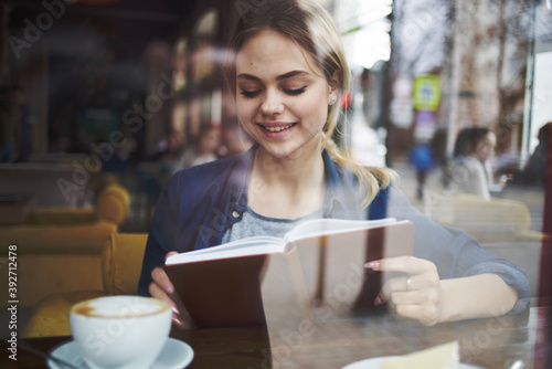
[[[373,301],[395,273],[373,272],[364,263],[412,255],[414,226],[408,221],[368,230],[296,241],[317,320],[381,314]]]

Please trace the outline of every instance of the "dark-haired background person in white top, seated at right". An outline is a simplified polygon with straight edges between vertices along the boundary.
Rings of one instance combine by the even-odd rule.
[[[497,137],[489,128],[464,128],[456,138],[454,160],[445,173],[445,187],[457,193],[471,193],[489,200],[493,187],[489,158],[496,146]]]

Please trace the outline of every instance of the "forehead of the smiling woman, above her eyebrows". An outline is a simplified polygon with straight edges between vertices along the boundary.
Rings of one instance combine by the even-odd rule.
[[[236,74],[275,77],[290,71],[321,76],[312,56],[288,36],[272,30],[247,40],[236,55]]]

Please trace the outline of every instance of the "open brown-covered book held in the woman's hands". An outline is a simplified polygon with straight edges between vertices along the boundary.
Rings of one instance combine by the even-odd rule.
[[[198,327],[333,320],[373,314],[386,276],[368,261],[412,255],[410,221],[306,221],[283,239],[254,236],[167,259]]]

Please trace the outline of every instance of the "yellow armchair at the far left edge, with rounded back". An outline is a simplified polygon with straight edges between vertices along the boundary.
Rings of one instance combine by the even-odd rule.
[[[17,246],[19,306],[32,308],[54,293],[102,289],[102,250],[129,208],[127,190],[112,183],[88,221],[78,222],[86,219],[81,210],[49,208],[36,210],[36,225],[1,226],[0,244]],[[0,270],[2,265],[8,266],[7,246],[0,250]],[[0,295],[8,295],[8,283],[0,284]]]

